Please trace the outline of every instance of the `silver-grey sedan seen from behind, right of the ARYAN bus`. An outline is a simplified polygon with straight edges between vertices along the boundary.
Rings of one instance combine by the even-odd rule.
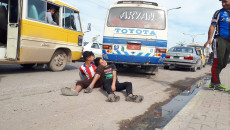
[[[198,68],[202,68],[202,60],[194,47],[176,46],[166,53],[164,69],[168,69],[169,66],[191,68],[195,72]]]

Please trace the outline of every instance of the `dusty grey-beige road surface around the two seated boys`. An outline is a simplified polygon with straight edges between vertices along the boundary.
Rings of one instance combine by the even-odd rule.
[[[0,128],[118,129],[124,120],[127,124],[133,123],[136,116],[151,116],[146,112],[151,111],[154,104],[169,100],[210,73],[210,66],[197,72],[159,69],[157,75],[124,69],[118,74],[120,82],[131,81],[134,94],[143,95],[145,100],[141,105],[127,103],[124,101],[125,92],[118,92],[121,101],[108,103],[107,94],[101,89],[95,89],[92,94],[80,93],[77,97],[60,94],[61,88],[74,87],[80,79],[78,67],[81,64],[76,62],[62,72],[1,65]]]

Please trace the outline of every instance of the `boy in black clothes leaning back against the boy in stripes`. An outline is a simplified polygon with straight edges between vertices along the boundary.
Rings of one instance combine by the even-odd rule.
[[[94,60],[96,66],[104,67],[104,80],[103,80],[103,88],[108,93],[108,101],[117,102],[120,100],[119,96],[114,94],[114,91],[122,91],[126,90],[126,101],[130,102],[141,102],[144,97],[141,95],[133,95],[132,93],[132,83],[124,82],[119,83],[117,80],[117,70],[114,64],[107,65],[107,62],[102,58],[96,58]]]

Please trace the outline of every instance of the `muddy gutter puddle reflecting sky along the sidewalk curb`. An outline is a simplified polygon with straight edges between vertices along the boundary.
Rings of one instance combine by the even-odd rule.
[[[152,109],[151,116],[143,118],[139,121],[130,122],[124,127],[121,126],[120,129],[132,129],[132,130],[161,130],[164,126],[169,123],[169,121],[200,91],[201,86],[206,84],[210,77],[203,77],[202,79],[196,81],[191,87],[182,91],[180,94],[176,94],[174,98],[167,100],[165,102],[155,104],[155,108]],[[194,83],[194,82],[193,82]],[[175,93],[173,93],[174,95]],[[142,118],[141,116],[138,118]],[[131,127],[130,127],[131,126]]]

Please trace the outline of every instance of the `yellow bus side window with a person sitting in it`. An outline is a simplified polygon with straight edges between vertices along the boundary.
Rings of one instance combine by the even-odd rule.
[[[59,7],[47,3],[46,22],[53,25],[59,25]]]

